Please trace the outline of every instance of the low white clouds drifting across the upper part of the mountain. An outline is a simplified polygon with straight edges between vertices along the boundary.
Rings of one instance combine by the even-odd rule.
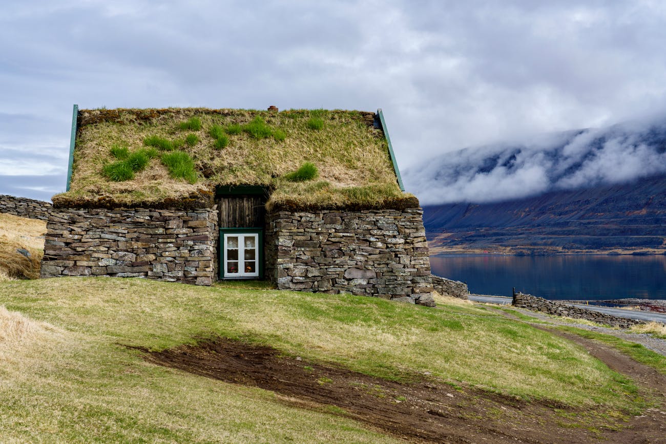
[[[666,174],[666,116],[448,152],[404,171],[422,204],[494,202]]]

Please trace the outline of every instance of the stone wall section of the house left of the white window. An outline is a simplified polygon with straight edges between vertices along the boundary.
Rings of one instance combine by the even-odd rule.
[[[49,214],[41,276],[119,276],[210,285],[216,208],[69,209]]]

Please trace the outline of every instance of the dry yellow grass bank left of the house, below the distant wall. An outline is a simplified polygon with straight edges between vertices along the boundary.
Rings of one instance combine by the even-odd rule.
[[[0,213],[0,281],[37,279],[46,222]],[[18,250],[26,250],[30,257]]]

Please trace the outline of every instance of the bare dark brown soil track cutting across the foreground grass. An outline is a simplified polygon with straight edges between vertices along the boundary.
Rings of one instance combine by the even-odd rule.
[[[619,371],[633,365],[635,375],[647,375],[645,369],[639,369],[643,366],[631,359],[625,362],[621,355],[618,357],[609,350],[602,352],[603,346],[593,346],[601,359],[617,359]],[[412,442],[666,442],[663,429],[666,416],[659,418],[661,422],[656,416],[661,416],[661,411],[654,412],[654,419],[635,419],[629,429],[619,432],[606,429],[600,434],[579,427],[575,416],[581,411],[570,407],[530,403],[477,389],[454,389],[433,381],[409,384],[386,381],[334,365],[280,355],[270,347],[228,339],[210,339],[161,352],[143,351],[153,363],[274,391],[286,403],[344,415]],[[641,382],[654,388],[655,384],[663,383],[660,376],[663,378],[659,373],[651,374]],[[664,385],[662,392],[663,388]]]

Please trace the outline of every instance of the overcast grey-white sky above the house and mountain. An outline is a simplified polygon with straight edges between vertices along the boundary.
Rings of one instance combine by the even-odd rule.
[[[382,108],[412,175],[666,109],[657,0],[10,0],[0,35],[0,194],[32,198],[65,189],[74,103]]]

